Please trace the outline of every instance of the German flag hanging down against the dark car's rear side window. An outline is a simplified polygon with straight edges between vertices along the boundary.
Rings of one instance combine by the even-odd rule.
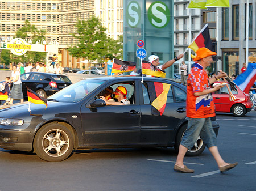
[[[162,116],[164,109],[166,108],[167,95],[170,90],[171,84],[160,82],[147,82],[148,90],[150,91],[151,105],[154,106],[160,112]],[[156,114],[152,110],[153,114]]]

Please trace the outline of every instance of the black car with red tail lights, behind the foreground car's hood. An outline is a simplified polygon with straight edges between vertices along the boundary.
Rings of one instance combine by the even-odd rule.
[[[22,80],[22,92],[27,99],[27,87],[35,91],[39,96],[47,97],[72,84],[66,75],[30,72],[20,75]]]

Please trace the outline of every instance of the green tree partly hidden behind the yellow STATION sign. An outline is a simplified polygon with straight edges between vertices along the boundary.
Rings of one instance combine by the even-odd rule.
[[[16,31],[16,38],[22,39],[31,39],[32,44],[35,44],[36,41],[46,39],[45,30],[39,30],[35,27],[35,25],[31,25],[28,20],[25,21],[24,26],[18,31]],[[26,54],[22,56],[16,56],[13,62],[36,62],[36,61],[44,61],[46,60],[46,53],[44,52],[32,52],[28,51]]]

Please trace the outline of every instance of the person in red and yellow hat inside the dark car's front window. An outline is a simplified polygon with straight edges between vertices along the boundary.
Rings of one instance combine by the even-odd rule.
[[[104,100],[106,105],[130,105],[130,101],[127,100],[126,95],[127,95],[127,90],[123,86],[118,86],[115,91],[114,91],[115,99],[117,99],[117,102],[112,102],[106,100],[104,96],[100,96],[100,99]]]

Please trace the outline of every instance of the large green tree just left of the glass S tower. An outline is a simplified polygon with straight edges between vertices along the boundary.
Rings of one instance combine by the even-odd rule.
[[[72,36],[78,43],[68,48],[72,56],[82,57],[89,63],[122,56],[121,41],[108,37],[105,33],[106,28],[102,27],[96,16],[92,16],[89,20],[78,20],[76,28],[77,33]],[[85,68],[88,69],[88,65]]]

